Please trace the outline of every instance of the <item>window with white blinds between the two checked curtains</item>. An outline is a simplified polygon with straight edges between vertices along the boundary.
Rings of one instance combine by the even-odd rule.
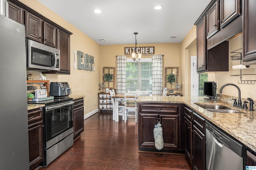
[[[140,59],[134,62],[132,59],[126,61],[126,90],[150,91],[152,93],[152,60]]]

